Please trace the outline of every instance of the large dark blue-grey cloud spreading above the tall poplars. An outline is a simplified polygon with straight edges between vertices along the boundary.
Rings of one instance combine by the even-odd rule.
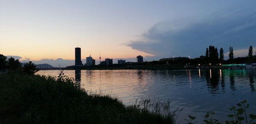
[[[222,47],[227,52],[233,46],[235,56],[239,49],[256,46],[255,4],[243,4],[210,14],[202,20],[176,19],[156,23],[140,40],[127,46],[154,55],[152,59],[205,54],[209,45]],[[243,52],[244,53],[244,52]],[[244,54],[241,54],[244,55]]]

